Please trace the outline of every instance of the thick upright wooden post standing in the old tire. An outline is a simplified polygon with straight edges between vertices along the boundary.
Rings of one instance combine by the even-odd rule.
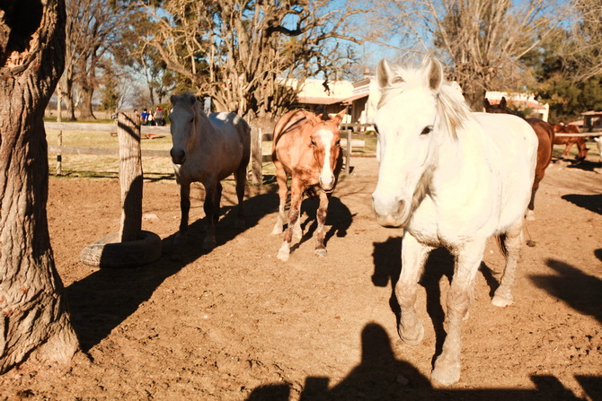
[[[121,225],[120,241],[137,240],[142,230],[142,159],[140,122],[134,113],[119,113]]]

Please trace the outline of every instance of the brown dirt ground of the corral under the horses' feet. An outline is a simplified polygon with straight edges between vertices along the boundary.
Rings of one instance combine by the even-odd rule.
[[[329,256],[314,257],[315,202],[287,263],[270,235],[275,185],[249,187],[245,230],[225,185],[218,247],[204,253],[200,187],[188,243],[172,179],[145,182],[143,229],[163,257],[129,269],[84,266],[79,252],[118,231],[117,179],[49,185],[49,226],[83,353],[68,366],[25,363],[0,377],[0,400],[602,399],[602,174],[593,163],[547,170],[506,309],[491,305],[503,258],[491,240],[463,329],[462,377],[431,383],[445,338],[452,259],[434,251],[421,281],[422,344],[396,333],[401,231],[376,224],[373,158],[352,160],[328,216]]]

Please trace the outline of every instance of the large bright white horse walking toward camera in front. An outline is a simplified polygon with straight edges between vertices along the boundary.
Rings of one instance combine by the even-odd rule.
[[[460,379],[460,328],[492,235],[507,257],[492,303],[512,303],[537,137],[522,118],[471,113],[434,58],[393,71],[382,60],[377,80],[380,167],[372,198],[377,222],[404,229],[395,286],[398,331],[405,343],[421,342],[424,331],[414,309],[418,282],[429,252],[448,248],[456,265],[447,294],[447,337],[431,377],[449,385]]]

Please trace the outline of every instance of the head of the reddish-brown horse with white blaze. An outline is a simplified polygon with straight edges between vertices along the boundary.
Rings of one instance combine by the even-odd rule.
[[[346,109],[339,114],[323,120],[321,116],[305,111],[307,124],[311,126],[310,146],[314,152],[314,159],[320,168],[320,187],[325,192],[331,192],[336,184],[335,169],[341,154],[341,131],[339,124],[345,115]]]

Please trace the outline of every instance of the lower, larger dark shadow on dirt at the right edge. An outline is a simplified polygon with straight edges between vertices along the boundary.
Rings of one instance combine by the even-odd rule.
[[[598,251],[599,249],[596,251],[597,256],[602,259],[599,255],[602,252]],[[547,259],[546,265],[555,274],[529,275],[531,282],[566,302],[572,309],[596,318],[602,323],[602,304],[600,304],[602,280],[560,260]]]

